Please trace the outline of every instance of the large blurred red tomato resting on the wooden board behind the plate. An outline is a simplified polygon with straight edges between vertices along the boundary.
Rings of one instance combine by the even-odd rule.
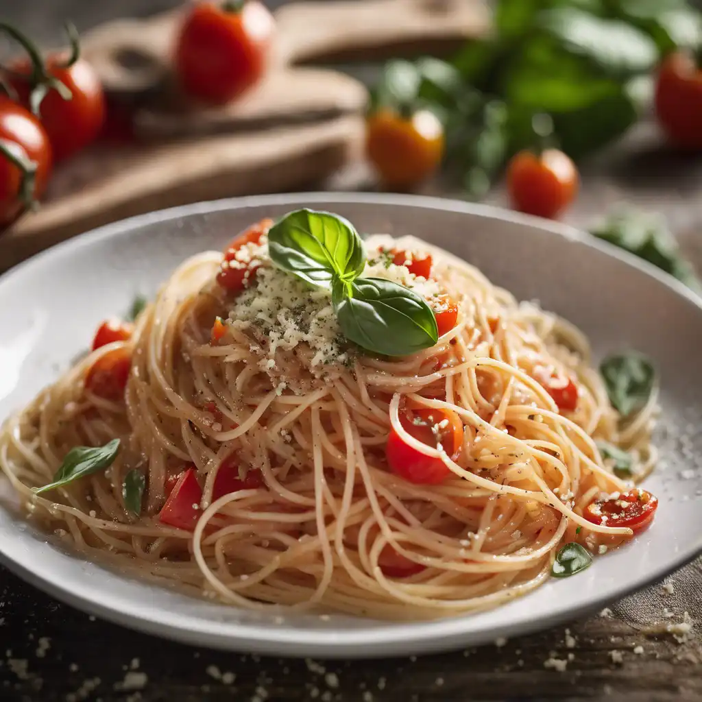
[[[275,23],[256,0],[192,6],[176,46],[176,74],[185,91],[224,105],[265,73]]]

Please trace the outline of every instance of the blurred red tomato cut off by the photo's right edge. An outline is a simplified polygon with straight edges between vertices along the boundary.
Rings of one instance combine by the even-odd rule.
[[[656,117],[678,146],[702,149],[702,70],[684,51],[668,55],[656,81]]]

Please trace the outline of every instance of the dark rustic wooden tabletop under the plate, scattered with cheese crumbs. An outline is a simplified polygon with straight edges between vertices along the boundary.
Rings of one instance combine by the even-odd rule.
[[[74,16],[81,28],[114,13],[146,14],[173,0],[45,0],[6,14],[55,40]],[[5,9],[5,8],[4,8]],[[41,15],[41,16],[40,16]],[[702,264],[702,161],[671,153],[651,125],[583,168],[584,185],[567,219],[586,225],[611,204],[633,202],[668,217]],[[362,166],[330,187],[364,187]],[[433,194],[454,194],[440,184]],[[503,203],[496,191],[490,201]],[[701,517],[702,524],[702,517]],[[576,583],[574,582],[574,586]],[[9,701],[324,702],[530,701],[693,702],[702,700],[702,559],[666,581],[593,614],[500,646],[380,661],[301,661],[195,649],[132,633],[81,614],[0,568],[0,699]],[[688,612],[692,635],[647,635]],[[571,660],[569,660],[571,658]],[[567,661],[563,671],[545,667]],[[550,663],[550,666],[562,663]]]

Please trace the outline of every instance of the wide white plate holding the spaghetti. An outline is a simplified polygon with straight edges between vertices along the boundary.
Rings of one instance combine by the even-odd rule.
[[[517,298],[541,300],[580,326],[597,355],[622,347],[651,355],[663,389],[662,458],[646,483],[661,501],[651,529],[583,574],[552,579],[484,614],[416,624],[289,615],[281,623],[62,552],[23,521],[0,480],[0,555],[8,567],[79,609],[148,633],[236,651],[349,658],[427,653],[545,628],[642,588],[702,550],[702,300],[569,227],[494,208],[395,195],[253,197],[136,217],[56,246],[0,278],[0,418],[55,378],[101,319],[124,312],[136,292],[154,293],[185,257],[303,205],[338,212],[362,232],[443,246]],[[690,468],[694,477],[683,479]]]

